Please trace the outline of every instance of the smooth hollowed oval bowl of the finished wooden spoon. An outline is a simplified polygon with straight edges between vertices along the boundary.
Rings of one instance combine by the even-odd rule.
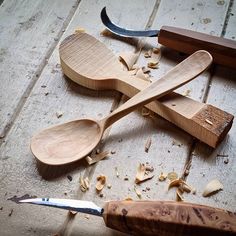
[[[45,164],[62,165],[88,155],[102,135],[99,122],[75,120],[39,132],[31,140],[31,150]]]

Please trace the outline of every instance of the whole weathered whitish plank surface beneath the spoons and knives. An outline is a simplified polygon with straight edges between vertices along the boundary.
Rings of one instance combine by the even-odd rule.
[[[38,197],[86,199],[101,204],[128,196],[137,199],[134,178],[139,163],[149,162],[155,177],[138,188],[142,199],[175,200],[167,183],[158,175],[174,170],[181,176],[190,165],[187,183],[196,188],[184,194],[185,201],[236,211],[236,125],[216,148],[194,140],[164,119],[144,118],[133,112],[115,124],[100,145],[115,150],[107,160],[94,166],[80,161],[66,167],[37,164],[30,152],[30,137],[53,124],[82,117],[100,118],[118,106],[123,97],[115,91],[92,91],[63,76],[58,56],[59,42],[83,27],[118,55],[135,50],[136,45],[100,35],[104,29],[100,11],[107,6],[112,19],[122,26],[158,29],[178,26],[229,39],[236,37],[236,2],[230,0],[5,0],[0,5],[0,235],[122,235],[107,229],[102,218],[30,205],[17,205],[7,199],[29,194]],[[206,20],[207,19],[207,20]],[[155,47],[155,38],[146,39]],[[159,77],[183,56],[164,50]],[[139,63],[142,64],[142,55]],[[236,71],[215,66],[179,89],[189,96],[236,114]],[[56,112],[63,116],[57,118]],[[148,153],[144,146],[148,138]],[[122,140],[122,141],[121,141]],[[173,140],[181,146],[172,145]],[[222,157],[219,154],[223,154]],[[226,161],[228,160],[228,163]],[[226,164],[227,163],[227,164]],[[116,177],[115,167],[120,178]],[[112,188],[101,198],[95,191],[96,177],[105,174]],[[72,177],[70,181],[67,176]],[[124,180],[128,176],[128,181]],[[89,177],[91,188],[80,191],[80,176]],[[211,179],[219,179],[223,191],[203,198],[202,190]]]

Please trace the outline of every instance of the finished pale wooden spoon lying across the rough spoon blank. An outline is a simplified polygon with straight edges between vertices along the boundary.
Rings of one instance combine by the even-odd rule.
[[[106,128],[137,107],[186,84],[211,62],[212,56],[208,52],[197,51],[107,117],[99,121],[75,120],[41,131],[32,138],[33,154],[39,161],[49,165],[67,164],[83,158],[97,146]]]

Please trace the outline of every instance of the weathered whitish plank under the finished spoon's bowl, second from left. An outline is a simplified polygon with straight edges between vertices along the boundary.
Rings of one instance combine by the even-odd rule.
[[[83,27],[87,32],[106,42],[116,52],[131,50],[133,46],[125,42],[100,36],[100,31],[104,27],[100,22],[99,13],[104,5],[107,5],[121,22],[129,16],[128,12],[133,8],[134,11],[143,15],[139,19],[142,26],[147,21],[147,15],[150,15],[154,1],[148,6],[144,6],[144,1],[139,1],[136,4],[133,1],[128,1],[124,11],[121,11],[124,1],[117,3],[101,1],[96,4],[93,1],[82,1],[63,37],[72,33],[75,28]],[[129,20],[130,26],[132,26],[136,23],[137,16],[134,15]],[[60,230],[67,214],[66,211],[57,213],[56,209],[41,208],[41,210],[37,206],[18,206],[7,201],[8,198],[14,195],[22,196],[26,193],[37,196],[77,197],[78,180],[84,170],[85,163],[79,162],[78,166],[72,165],[63,168],[47,166],[36,168],[36,161],[29,150],[29,141],[33,133],[51,124],[63,123],[71,119],[89,116],[101,118],[109,113],[113,99],[117,96],[115,92],[94,92],[65,80],[58,63],[58,49],[56,49],[1,147],[0,171],[1,180],[4,180],[4,183],[0,193],[0,205],[3,206],[0,217],[3,225],[1,230],[4,235],[16,233],[31,235],[32,232],[37,235],[49,235]],[[63,112],[60,119],[56,117],[57,111]],[[42,179],[39,172],[44,177],[51,177],[51,181]],[[72,176],[71,182],[66,178],[67,174]],[[58,177],[52,179],[52,176]],[[11,217],[8,217],[11,209],[14,209],[14,212]],[[95,217],[94,220],[95,227],[92,229],[98,231],[100,225],[103,224],[102,219]],[[27,225],[25,221],[27,221]],[[85,232],[84,235],[86,232],[91,234],[88,225],[86,227],[78,225],[80,228],[77,232]],[[68,228],[70,231],[71,227],[68,226]],[[113,234],[113,231],[108,231],[103,227],[97,235],[104,235],[104,232]]]

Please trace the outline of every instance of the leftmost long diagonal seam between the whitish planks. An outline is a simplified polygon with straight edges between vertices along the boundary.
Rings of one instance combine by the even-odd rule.
[[[64,34],[66,28],[68,27],[71,19],[73,18],[79,4],[80,4],[81,0],[76,1],[75,5],[72,6],[69,14],[67,15],[61,30],[59,30],[59,33],[57,34],[56,38],[60,39],[62,37],[62,35]],[[2,144],[5,142],[4,138],[8,135],[8,133],[10,132],[15,120],[17,119],[17,117],[19,116],[22,108],[24,107],[30,93],[32,92],[35,84],[37,83],[38,79],[40,78],[45,66],[47,65],[47,61],[48,58],[51,57],[51,55],[53,54],[58,41],[55,41],[52,43],[52,45],[49,47],[49,49],[47,50],[44,59],[42,59],[42,62],[39,64],[38,69],[35,71],[34,75],[32,76],[31,82],[29,83],[29,85],[27,86],[25,92],[22,94],[21,98],[19,99],[19,102],[16,106],[16,109],[12,115],[12,117],[10,118],[10,120],[7,122],[7,124],[5,125],[2,134],[0,134],[0,147],[2,146]]]

